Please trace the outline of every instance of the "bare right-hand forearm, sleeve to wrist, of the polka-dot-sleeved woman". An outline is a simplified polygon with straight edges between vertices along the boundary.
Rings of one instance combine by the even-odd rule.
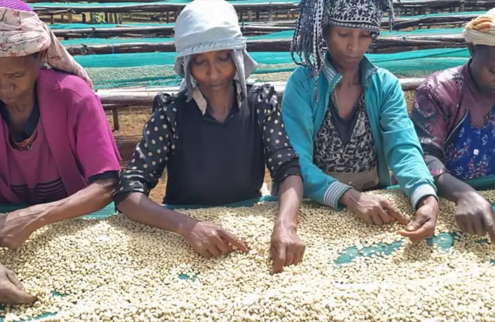
[[[287,227],[297,227],[297,213],[302,201],[302,179],[298,175],[291,175],[282,181],[279,189],[279,215],[277,224]]]

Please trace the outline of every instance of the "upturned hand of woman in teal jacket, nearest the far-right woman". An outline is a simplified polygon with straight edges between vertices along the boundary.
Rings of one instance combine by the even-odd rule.
[[[438,201],[433,196],[427,196],[419,202],[419,208],[414,218],[407,224],[405,230],[399,230],[399,235],[417,243],[430,238],[435,233],[438,218]]]

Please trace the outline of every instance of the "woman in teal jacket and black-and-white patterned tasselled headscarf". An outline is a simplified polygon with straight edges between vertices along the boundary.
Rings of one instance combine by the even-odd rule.
[[[300,7],[292,49],[302,67],[289,78],[282,110],[305,195],[335,209],[346,206],[369,224],[406,223],[387,200],[363,193],[391,185],[390,166],[416,209],[399,233],[413,241],[431,236],[436,190],[402,89],[364,56],[389,1],[302,0]]]

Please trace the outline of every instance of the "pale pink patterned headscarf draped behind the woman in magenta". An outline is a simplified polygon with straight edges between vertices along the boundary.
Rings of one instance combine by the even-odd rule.
[[[93,83],[49,27],[21,0],[0,0],[0,57],[41,53],[43,63]]]

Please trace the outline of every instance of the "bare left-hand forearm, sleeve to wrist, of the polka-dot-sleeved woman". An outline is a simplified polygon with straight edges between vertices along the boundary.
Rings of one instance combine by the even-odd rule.
[[[198,221],[162,207],[139,192],[127,196],[117,205],[117,209],[132,220],[183,236]]]

